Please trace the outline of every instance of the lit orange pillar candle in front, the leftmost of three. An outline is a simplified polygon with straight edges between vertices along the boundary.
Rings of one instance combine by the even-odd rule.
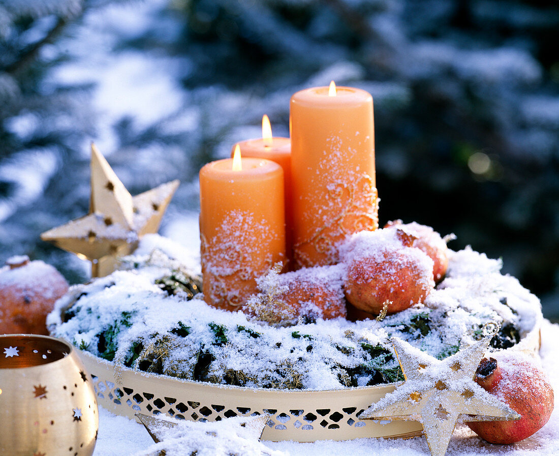
[[[200,239],[206,303],[236,311],[256,278],[285,261],[283,171],[266,159],[227,158],[200,170]]]

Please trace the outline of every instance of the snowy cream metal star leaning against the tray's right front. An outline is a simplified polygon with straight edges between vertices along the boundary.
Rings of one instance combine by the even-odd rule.
[[[488,327],[493,325],[493,331]],[[432,456],[443,456],[457,421],[517,420],[518,413],[473,381],[496,323],[484,337],[442,361],[392,339],[406,382],[361,413],[359,419],[416,420]]]

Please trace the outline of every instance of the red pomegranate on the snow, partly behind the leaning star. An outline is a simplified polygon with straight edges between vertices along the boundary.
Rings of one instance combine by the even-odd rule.
[[[516,421],[468,422],[468,426],[489,443],[510,444],[524,440],[549,420],[553,411],[553,388],[532,361],[511,358],[498,363],[495,358],[484,358],[475,380],[520,415]]]

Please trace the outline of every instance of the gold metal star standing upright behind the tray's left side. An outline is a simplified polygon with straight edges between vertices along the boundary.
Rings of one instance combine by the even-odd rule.
[[[110,274],[144,234],[157,233],[178,184],[167,182],[132,197],[92,143],[89,214],[42,233],[41,239],[92,261],[93,277]]]

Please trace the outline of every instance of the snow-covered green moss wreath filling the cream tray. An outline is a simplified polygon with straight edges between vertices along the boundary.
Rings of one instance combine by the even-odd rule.
[[[160,288],[158,279],[194,269],[180,252],[169,239],[146,236],[127,258],[129,270],[75,285],[56,303],[48,318],[51,332],[147,372],[250,388],[321,390],[403,379],[391,336],[442,359],[479,340],[486,322],[524,335],[540,312],[534,295],[500,274],[499,261],[466,249],[451,252],[447,277],[424,304],[382,322],[319,318],[272,327],[240,311],[212,308],[201,294],[187,300]]]

